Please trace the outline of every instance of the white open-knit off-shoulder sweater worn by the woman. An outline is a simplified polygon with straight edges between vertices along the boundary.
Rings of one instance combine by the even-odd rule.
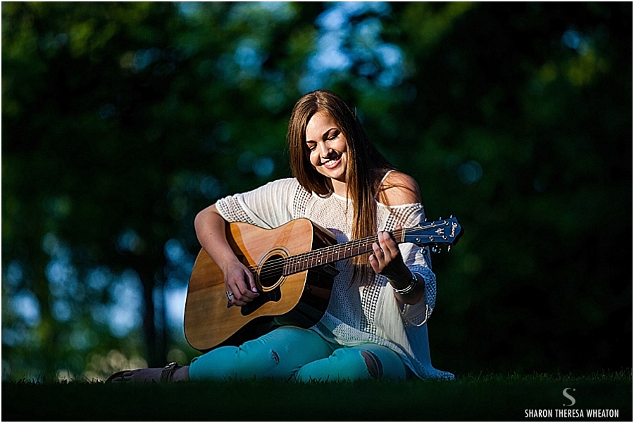
[[[400,206],[377,204],[377,226],[391,231],[397,225],[413,227],[425,219],[420,203]],[[306,191],[297,179],[280,179],[249,191],[218,200],[216,208],[228,222],[247,222],[272,229],[306,217],[335,234],[339,243],[352,234],[352,202],[336,194],[321,197]],[[429,255],[414,244],[399,244],[406,265],[425,279],[425,298],[416,305],[403,305],[394,298],[387,278],[355,282],[352,260],[336,263],[340,273],[324,316],[311,327],[325,339],[344,346],[373,342],[398,353],[418,377],[453,378],[431,365],[427,324],[436,298],[436,277]]]

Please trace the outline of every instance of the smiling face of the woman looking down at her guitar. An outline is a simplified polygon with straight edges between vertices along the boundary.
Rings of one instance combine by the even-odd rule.
[[[348,144],[340,127],[328,113],[317,112],[311,117],[306,125],[306,146],[313,168],[330,178],[336,194],[345,196]]]

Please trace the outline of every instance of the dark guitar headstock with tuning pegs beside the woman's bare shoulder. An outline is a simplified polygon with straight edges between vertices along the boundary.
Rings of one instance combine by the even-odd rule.
[[[440,252],[440,246],[446,245],[451,248],[456,244],[464,229],[456,219],[435,220],[434,222],[423,222],[421,225],[404,229],[403,242],[411,242],[417,246],[433,246],[432,251]]]

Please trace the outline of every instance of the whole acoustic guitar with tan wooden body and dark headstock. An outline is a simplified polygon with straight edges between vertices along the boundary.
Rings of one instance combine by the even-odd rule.
[[[455,217],[391,232],[397,243],[451,248],[463,233]],[[297,219],[275,229],[230,223],[227,239],[235,255],[254,274],[259,296],[230,305],[220,268],[201,249],[187,287],[185,338],[199,351],[240,345],[283,324],[311,327],[330,300],[337,275],[333,263],[370,253],[377,236],[337,244],[328,229]],[[426,253],[425,248],[423,252]]]

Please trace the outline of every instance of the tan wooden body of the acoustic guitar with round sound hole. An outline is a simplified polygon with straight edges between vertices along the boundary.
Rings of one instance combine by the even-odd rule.
[[[235,255],[252,268],[259,297],[228,307],[220,268],[201,249],[187,288],[185,338],[199,351],[239,345],[282,324],[310,327],[328,307],[337,274],[330,265],[284,274],[280,263],[291,255],[337,244],[335,236],[307,219],[275,229],[247,223],[227,225],[227,239]]]

